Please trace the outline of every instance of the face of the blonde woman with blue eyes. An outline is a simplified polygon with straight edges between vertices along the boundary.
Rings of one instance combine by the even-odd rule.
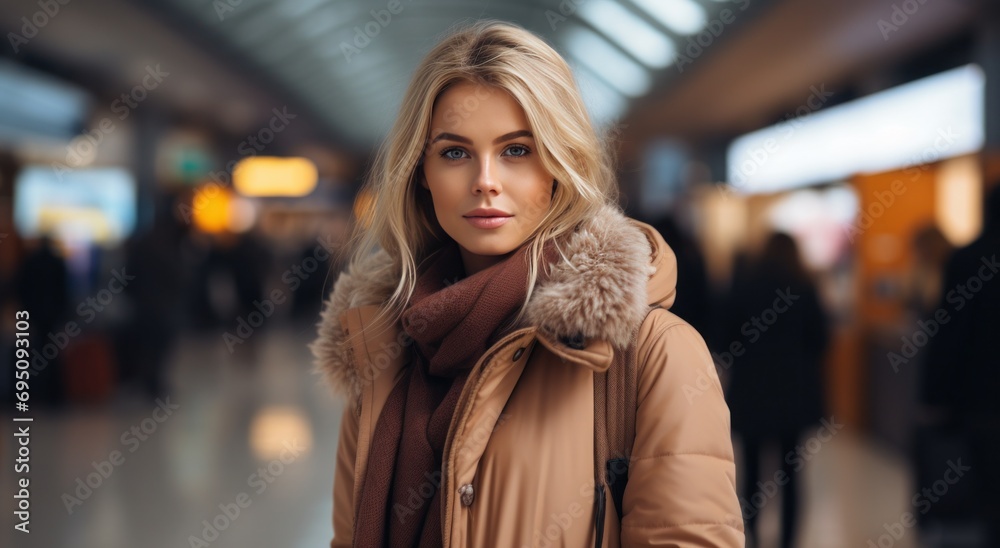
[[[461,248],[466,275],[520,247],[551,204],[553,177],[524,109],[500,88],[462,83],[438,97],[422,168],[421,184]]]

